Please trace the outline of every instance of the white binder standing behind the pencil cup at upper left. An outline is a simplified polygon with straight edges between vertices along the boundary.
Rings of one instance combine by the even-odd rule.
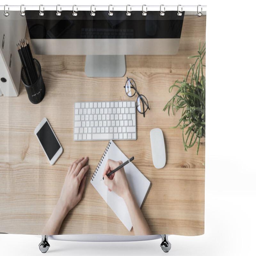
[[[20,12],[0,12],[0,95],[18,96],[21,61],[17,43],[25,37],[27,21]]]

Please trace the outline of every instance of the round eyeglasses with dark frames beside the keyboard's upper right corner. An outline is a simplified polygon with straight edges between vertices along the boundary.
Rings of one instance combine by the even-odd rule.
[[[145,117],[145,112],[150,108],[148,107],[148,100],[147,98],[140,94],[138,91],[137,91],[137,88],[136,88],[136,84],[134,82],[134,80],[132,78],[128,78],[127,77],[127,81],[125,83],[125,92],[127,94],[127,96],[129,97],[132,97],[135,95],[135,93],[138,94],[138,98],[136,100],[136,107],[137,107],[137,110],[140,112],[140,114],[143,114],[143,116]]]

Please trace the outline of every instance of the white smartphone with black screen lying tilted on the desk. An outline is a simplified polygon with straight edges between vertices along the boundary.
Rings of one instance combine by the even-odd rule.
[[[54,164],[62,154],[63,148],[45,117],[37,125],[35,134],[50,164]]]

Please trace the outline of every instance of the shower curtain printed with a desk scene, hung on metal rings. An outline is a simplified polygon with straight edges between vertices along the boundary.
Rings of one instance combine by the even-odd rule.
[[[92,6],[79,11],[73,6],[73,11],[65,11],[57,6],[47,11],[41,6],[37,11],[1,11],[1,233],[204,234],[206,14],[184,12],[179,6],[178,12],[159,8],[133,11],[127,6],[126,11],[115,11],[109,6],[100,11]],[[20,80],[19,44],[29,44],[41,66],[45,95],[38,104],[30,102]],[[115,55],[125,58],[116,62]],[[110,56],[106,73],[98,69],[102,56]],[[121,65],[123,74],[113,75]],[[6,74],[11,74],[12,89],[4,87]],[[11,90],[17,95],[7,95]],[[119,107],[120,102],[125,104]],[[131,102],[136,111],[134,135],[127,129]],[[87,103],[93,113],[84,110]],[[111,112],[104,112],[107,106]],[[97,114],[100,119],[94,119]],[[44,117],[63,148],[53,165],[34,132]],[[109,134],[116,130],[118,137],[92,140],[86,121],[94,122],[91,134],[104,128]],[[164,138],[165,164],[160,169],[152,158],[154,128],[160,128]],[[93,177],[113,144],[128,158],[134,156],[129,163],[133,172],[125,176],[119,170],[96,188]],[[120,159],[109,171],[121,160],[117,149],[113,154]],[[126,214],[133,228],[120,214]]]

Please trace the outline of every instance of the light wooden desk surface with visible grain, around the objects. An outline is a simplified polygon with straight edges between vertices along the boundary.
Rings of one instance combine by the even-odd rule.
[[[60,234],[133,235],[116,217],[90,178],[108,141],[73,140],[74,102],[128,100],[126,76],[149,102],[150,110],[137,114],[137,140],[116,141],[133,163],[151,181],[142,212],[153,234],[204,234],[204,145],[184,151],[182,132],[170,129],[181,113],[168,116],[163,108],[173,94],[169,86],[182,80],[195,55],[199,39],[205,41],[206,17],[185,16],[180,48],[173,56],[126,56],[122,78],[89,78],[84,74],[84,56],[34,55],[42,66],[46,86],[44,100],[33,105],[20,85],[18,97],[0,98],[0,232],[40,234],[57,203],[68,166],[78,157],[89,156],[84,195],[67,215]],[[135,99],[134,99],[135,100]],[[64,152],[51,166],[34,134],[46,117]],[[153,166],[149,132],[164,133],[166,165]],[[108,216],[108,220],[107,220]]]

